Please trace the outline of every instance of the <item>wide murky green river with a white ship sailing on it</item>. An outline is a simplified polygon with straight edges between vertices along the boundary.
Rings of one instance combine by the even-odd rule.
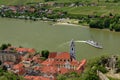
[[[106,54],[120,54],[120,33],[89,29],[72,25],[51,25],[50,22],[25,21],[0,18],[0,44],[47,49],[54,52],[69,52],[69,41],[76,41],[77,59],[94,58]],[[103,49],[85,44],[84,40],[95,40]],[[80,42],[81,41],[81,42]]]

